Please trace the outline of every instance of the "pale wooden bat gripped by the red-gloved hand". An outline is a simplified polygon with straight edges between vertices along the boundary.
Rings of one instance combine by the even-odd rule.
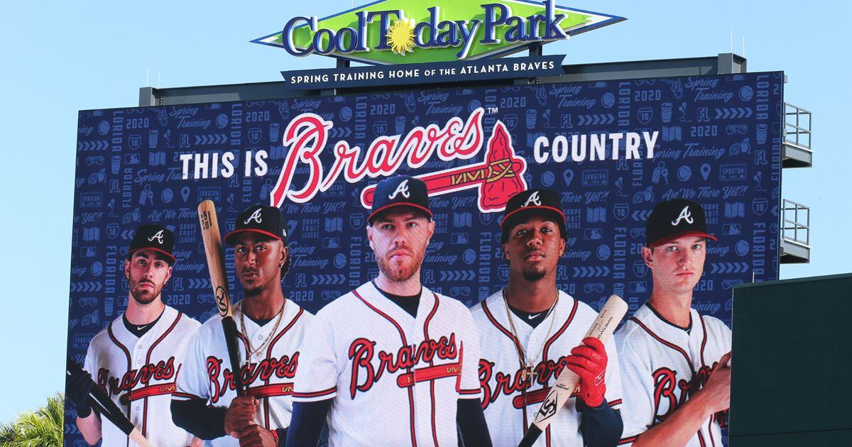
[[[621,318],[625,318],[625,313],[627,313],[627,303],[619,295],[610,295],[585,336],[595,337],[602,343],[606,343],[609,337],[613,335],[616,326],[621,322]],[[547,393],[547,397],[541,403],[541,408],[538,409],[533,424],[527,429],[527,433],[521,439],[521,444],[518,444],[518,447],[531,447],[535,444],[538,436],[553,421],[553,416],[565,406],[568,398],[571,398],[579,382],[580,377],[577,373],[567,368],[562,370],[559,378],[556,379],[556,383],[553,387],[550,387],[550,392]]]

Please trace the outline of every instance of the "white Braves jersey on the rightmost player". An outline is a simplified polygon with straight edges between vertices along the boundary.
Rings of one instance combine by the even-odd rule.
[[[690,309],[691,324],[684,330],[659,316],[648,304],[616,333],[621,355],[625,430],[619,445],[672,415],[705,385],[719,359],[731,351],[731,330],[717,318]],[[701,424],[687,444],[722,445],[719,417]]]

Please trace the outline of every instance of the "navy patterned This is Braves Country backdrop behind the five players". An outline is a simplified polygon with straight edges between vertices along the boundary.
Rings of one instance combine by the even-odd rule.
[[[621,295],[629,312],[651,290],[640,254],[651,209],[700,203],[719,240],[693,306],[730,324],[734,284],[778,278],[782,87],[766,72],[80,112],[68,354],[82,364],[127,307],[124,259],[141,224],[175,235],[164,302],[199,322],[216,315],[204,199],[222,232],[250,205],[281,209],[285,295],[316,312],[377,275],[370,186],[394,174],[431,192],[423,284],[469,307],[508,279],[498,222],[514,192],[560,194],[558,287],[595,308]],[[236,301],[233,256],[227,247]]]

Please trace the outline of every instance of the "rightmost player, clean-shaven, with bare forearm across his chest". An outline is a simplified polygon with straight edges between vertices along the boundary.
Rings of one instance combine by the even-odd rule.
[[[691,307],[707,244],[717,238],[701,205],[684,199],[654,207],[645,234],[651,297],[616,333],[625,392],[619,445],[722,445],[731,330]]]

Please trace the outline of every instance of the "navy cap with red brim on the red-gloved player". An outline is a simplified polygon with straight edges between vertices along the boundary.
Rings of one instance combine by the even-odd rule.
[[[565,213],[562,212],[559,194],[542,188],[521,191],[509,198],[509,202],[506,203],[506,214],[503,216],[503,221],[500,221],[500,230],[503,231],[502,242],[509,240],[509,231],[512,228],[531,215],[540,215],[556,222],[559,226],[559,235],[562,239],[567,239]]]

